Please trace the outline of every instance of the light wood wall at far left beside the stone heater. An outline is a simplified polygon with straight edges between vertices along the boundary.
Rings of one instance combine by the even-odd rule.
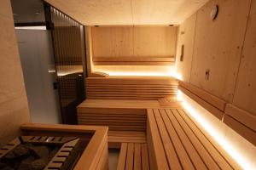
[[[0,1],[0,146],[19,134],[29,122],[26,90],[20,65],[9,0]]]

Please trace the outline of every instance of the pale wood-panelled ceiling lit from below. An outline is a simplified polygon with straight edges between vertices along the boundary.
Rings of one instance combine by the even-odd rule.
[[[208,0],[45,0],[86,26],[177,25]]]

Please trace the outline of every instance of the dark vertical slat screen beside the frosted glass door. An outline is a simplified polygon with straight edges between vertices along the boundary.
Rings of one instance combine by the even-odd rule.
[[[76,124],[76,106],[84,100],[84,26],[48,6],[55,50],[62,122]]]

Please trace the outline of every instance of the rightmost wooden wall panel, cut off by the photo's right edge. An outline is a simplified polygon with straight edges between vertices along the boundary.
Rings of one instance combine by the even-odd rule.
[[[256,1],[252,1],[233,103],[256,116]]]

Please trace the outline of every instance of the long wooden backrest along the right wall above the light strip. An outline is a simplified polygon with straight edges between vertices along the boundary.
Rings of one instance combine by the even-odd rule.
[[[244,111],[236,105],[227,103],[217,96],[209,94],[207,91],[197,88],[189,82],[179,81],[178,88],[189,98],[194,99],[196,103],[204,107],[207,111],[222,120],[231,127],[236,133],[250,143],[256,145],[256,116],[250,112]],[[166,99],[160,99],[163,105],[168,104]]]

